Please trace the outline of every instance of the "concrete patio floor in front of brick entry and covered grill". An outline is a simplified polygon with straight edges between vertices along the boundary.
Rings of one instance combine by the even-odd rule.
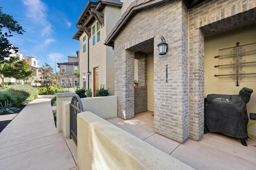
[[[129,120],[116,117],[108,121],[198,170],[256,169],[256,141],[248,139],[245,147],[240,139],[208,132],[200,141],[179,143],[154,132],[153,114],[146,111]]]

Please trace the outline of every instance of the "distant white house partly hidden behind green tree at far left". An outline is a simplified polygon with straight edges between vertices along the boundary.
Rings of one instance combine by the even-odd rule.
[[[16,56],[19,57],[20,60],[26,60],[28,65],[32,68],[32,70],[34,71],[34,75],[32,75],[32,77],[28,77],[28,80],[25,80],[25,82],[29,82],[31,84],[31,86],[40,86],[41,84],[39,82],[37,82],[38,80],[40,80],[39,78],[39,64],[38,61],[35,57],[27,57],[25,55],[23,55],[20,51],[18,51],[17,53],[12,54],[11,56]],[[0,80],[2,82],[2,80]],[[11,83],[23,83],[23,80],[17,80],[16,78],[4,78],[4,82],[11,82]]]

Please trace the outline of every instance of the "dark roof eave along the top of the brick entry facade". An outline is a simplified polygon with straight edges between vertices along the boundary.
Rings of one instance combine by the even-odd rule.
[[[138,10],[142,10],[144,8],[147,8],[152,5],[156,5],[159,3],[166,2],[168,0],[134,0],[126,9],[124,14],[121,16],[120,20],[117,21],[114,28],[111,30],[111,32],[108,34],[104,45],[108,45],[110,47],[114,47],[114,37],[118,34],[118,32],[121,30],[121,28],[124,26],[124,24],[136,13],[138,13]],[[183,0],[186,7],[192,8],[206,0]]]

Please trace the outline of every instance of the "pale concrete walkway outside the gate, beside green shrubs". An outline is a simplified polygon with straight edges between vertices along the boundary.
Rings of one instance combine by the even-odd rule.
[[[77,170],[76,146],[58,133],[52,96],[30,102],[0,133],[0,170]]]

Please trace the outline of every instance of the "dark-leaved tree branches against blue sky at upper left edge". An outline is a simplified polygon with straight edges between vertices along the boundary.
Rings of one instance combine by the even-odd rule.
[[[0,61],[5,57],[9,57],[10,54],[18,52],[18,48],[9,43],[8,37],[12,37],[11,31],[18,34],[25,32],[17,21],[13,19],[13,16],[2,13],[2,7],[0,7]],[[8,32],[3,33],[3,28],[8,29]]]

